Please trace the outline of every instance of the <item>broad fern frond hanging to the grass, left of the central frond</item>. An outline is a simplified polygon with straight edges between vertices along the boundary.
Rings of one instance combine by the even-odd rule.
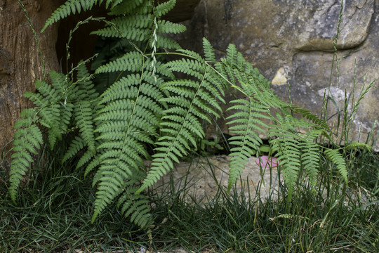
[[[149,157],[143,143],[154,143],[152,136],[157,134],[162,113],[159,100],[164,97],[151,75],[129,74],[102,94],[100,103],[105,106],[96,119],[100,123],[95,130],[101,144],[95,162],[100,168],[93,181],[98,183],[93,219],[121,193],[127,181],[143,176],[141,157]],[[159,77],[157,82],[161,85],[163,79]],[[91,169],[87,168],[86,173]]]

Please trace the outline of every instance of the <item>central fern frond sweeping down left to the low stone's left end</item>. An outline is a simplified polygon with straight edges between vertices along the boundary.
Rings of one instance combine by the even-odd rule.
[[[137,194],[173,169],[173,163],[187,155],[191,147],[197,148],[197,140],[205,136],[201,120],[211,123],[210,117],[219,117],[219,103],[225,103],[223,91],[219,89],[222,85],[213,83],[218,80],[217,73],[196,53],[187,55],[191,59],[173,60],[167,64],[171,71],[187,74],[192,79],[174,80],[161,86],[169,93],[167,98],[161,99],[169,108],[161,117],[162,136],[155,143],[157,153],[153,155],[152,169]]]

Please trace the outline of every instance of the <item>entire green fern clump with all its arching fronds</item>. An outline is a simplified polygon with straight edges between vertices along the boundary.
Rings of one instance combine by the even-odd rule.
[[[91,10],[102,2],[69,0],[46,21],[44,29],[70,13]],[[18,130],[10,179],[14,202],[22,176],[32,162],[30,153],[39,150],[43,143],[41,129],[46,129],[51,150],[63,138],[69,141],[62,162],[79,156],[77,169],[85,167],[84,174],[93,177],[97,191],[92,222],[108,205],[117,202],[124,216],[148,228],[154,219],[144,190],[171,171],[175,162],[197,149],[205,138],[201,122],[212,124],[214,118],[220,117],[225,90],[246,96],[246,100],[233,100],[228,109],[233,111],[228,124],[234,134],[229,140],[234,145],[229,190],[248,157],[259,152],[262,140],[258,132],[265,129],[269,129],[272,150],[280,160],[288,200],[302,171],[315,185],[320,148],[326,150],[326,157],[347,180],[342,154],[314,143],[321,134],[328,138],[330,129],[326,123],[307,110],[279,100],[270,83],[234,45],[218,61],[206,39],[203,58],[166,37],[166,33],[185,30],[182,25],[162,19],[173,6],[175,0],[157,5],[152,0],[105,2],[109,15],[116,17],[93,34],[126,39],[132,49],[95,70],[95,74],[119,73],[100,95],[93,86],[93,74],[85,67],[88,60],[67,74],[51,72],[52,84],[37,81],[38,91],[25,93],[36,107],[22,112],[22,119],[15,125]],[[171,54],[180,59],[164,63],[166,49],[175,49]],[[178,72],[184,78],[175,77]],[[302,113],[303,119],[295,119],[293,112]],[[154,147],[152,156],[148,146]],[[150,169],[142,158],[152,159]]]

